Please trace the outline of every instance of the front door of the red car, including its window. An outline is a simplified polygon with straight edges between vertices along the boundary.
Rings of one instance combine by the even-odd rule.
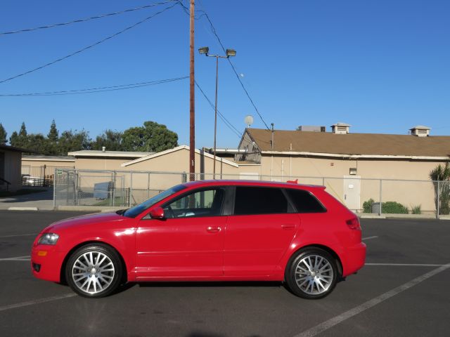
[[[223,275],[224,194],[224,187],[186,192],[162,205],[164,219],[140,220],[137,279]]]

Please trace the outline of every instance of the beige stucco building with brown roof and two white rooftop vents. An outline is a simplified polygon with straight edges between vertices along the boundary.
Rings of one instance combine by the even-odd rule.
[[[383,202],[434,211],[429,173],[450,161],[449,136],[430,136],[426,126],[411,128],[410,135],[350,133],[349,128],[335,124],[328,133],[248,128],[236,160],[259,164],[252,169],[265,179],[326,185],[356,211],[380,196]]]

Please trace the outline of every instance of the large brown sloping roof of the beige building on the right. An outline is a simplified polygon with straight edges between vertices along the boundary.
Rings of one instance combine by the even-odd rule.
[[[439,157],[438,159],[450,157],[450,136],[417,137],[381,133],[338,135],[329,132],[276,130],[272,149],[271,131],[248,128],[247,132],[263,153],[308,152],[323,156],[343,154],[366,157]]]

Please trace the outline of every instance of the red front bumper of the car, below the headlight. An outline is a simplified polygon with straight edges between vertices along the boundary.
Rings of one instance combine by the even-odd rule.
[[[31,251],[31,270],[34,277],[51,282],[60,282],[60,270],[64,253],[56,250],[56,246],[39,244]]]

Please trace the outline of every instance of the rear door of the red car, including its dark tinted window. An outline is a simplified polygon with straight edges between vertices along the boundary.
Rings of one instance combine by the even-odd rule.
[[[236,186],[226,220],[225,276],[270,275],[288,249],[300,218],[276,187]]]

